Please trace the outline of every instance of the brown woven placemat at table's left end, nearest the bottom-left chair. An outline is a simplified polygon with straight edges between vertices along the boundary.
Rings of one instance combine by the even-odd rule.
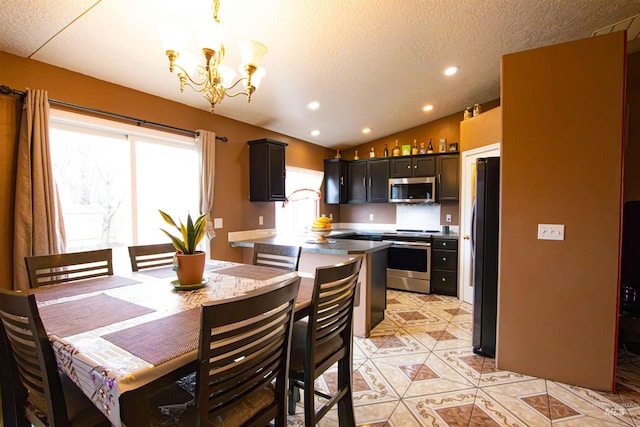
[[[59,337],[68,337],[153,313],[155,310],[99,294],[48,305],[38,311],[47,332]]]

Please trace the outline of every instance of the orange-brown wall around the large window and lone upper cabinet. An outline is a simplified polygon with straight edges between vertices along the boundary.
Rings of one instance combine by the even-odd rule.
[[[227,233],[256,228],[275,227],[275,207],[273,203],[249,202],[249,149],[247,141],[271,138],[288,143],[286,163],[315,170],[323,170],[322,159],[331,157],[333,151],[290,138],[266,129],[211,115],[163,98],[138,92],[79,73],[47,65],[38,61],[20,58],[0,52],[0,84],[16,90],[25,88],[45,89],[49,98],[81,105],[84,107],[136,117],[151,122],[178,128],[196,130],[207,129],[217,135],[226,136],[229,142],[216,144],[216,185],[213,216],[224,219],[224,228],[216,230],[212,253],[217,259],[241,261],[242,250],[228,246]],[[248,107],[250,108],[250,107]],[[4,116],[10,114],[4,104],[0,104]],[[11,133],[9,129],[9,134]],[[0,154],[10,154],[11,135],[2,133]],[[6,151],[8,150],[8,151]],[[0,170],[0,197],[6,200],[6,182],[9,169]],[[321,204],[323,205],[323,204]],[[3,208],[4,209],[4,208]],[[321,211],[333,213],[339,220],[339,208],[321,206]],[[6,215],[0,214],[0,215]],[[264,225],[258,225],[258,216],[264,216]],[[3,217],[0,216],[0,220]],[[4,224],[4,221],[0,221]],[[4,240],[4,239],[3,239]],[[3,242],[4,244],[4,242]],[[0,252],[0,255],[4,255]],[[1,258],[4,262],[5,259]],[[5,263],[6,264],[6,263]]]

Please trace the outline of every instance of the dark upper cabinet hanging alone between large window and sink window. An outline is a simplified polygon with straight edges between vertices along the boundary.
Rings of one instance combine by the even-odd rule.
[[[249,144],[249,200],[277,202],[285,200],[285,160],[287,144],[272,139],[257,139]]]

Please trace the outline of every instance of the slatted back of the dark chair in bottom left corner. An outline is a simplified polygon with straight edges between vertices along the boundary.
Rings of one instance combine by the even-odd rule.
[[[30,400],[46,406],[48,425],[68,426],[55,355],[42,325],[35,295],[0,289],[0,319],[4,345],[12,355],[8,363],[14,366],[18,377],[14,386],[26,390]]]

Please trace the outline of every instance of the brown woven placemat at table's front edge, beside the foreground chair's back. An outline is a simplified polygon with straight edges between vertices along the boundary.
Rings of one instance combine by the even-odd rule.
[[[129,353],[159,365],[195,350],[200,338],[200,309],[193,308],[142,325],[103,335]]]

